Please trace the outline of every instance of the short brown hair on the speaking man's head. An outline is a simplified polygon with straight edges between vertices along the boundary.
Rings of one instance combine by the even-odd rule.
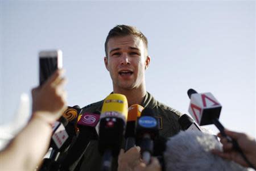
[[[114,28],[112,28],[112,30],[109,31],[109,34],[106,37],[106,41],[105,41],[106,57],[108,57],[108,50],[107,49],[108,49],[108,42],[109,42],[110,38],[130,36],[130,35],[134,35],[134,36],[137,36],[137,37],[141,38],[141,40],[143,41],[143,43],[146,47],[146,50],[147,50],[147,37],[144,36],[141,31],[139,31],[136,27],[133,27],[133,26],[117,25]]]

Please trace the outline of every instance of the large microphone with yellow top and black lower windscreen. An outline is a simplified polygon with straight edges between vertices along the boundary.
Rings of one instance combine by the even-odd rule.
[[[101,170],[111,170],[112,157],[117,157],[125,134],[128,102],[125,95],[110,94],[102,105],[98,149],[102,159]]]

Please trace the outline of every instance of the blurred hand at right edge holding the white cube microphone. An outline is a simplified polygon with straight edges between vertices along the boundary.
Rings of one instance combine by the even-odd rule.
[[[256,166],[256,141],[252,138],[247,136],[246,134],[233,132],[225,130],[226,135],[232,137],[232,139],[236,140],[240,148],[242,149],[243,153],[247,157],[247,159]],[[218,155],[224,159],[233,160],[242,166],[248,167],[245,160],[243,160],[240,153],[233,149],[232,143],[228,142],[225,137],[222,137],[219,133],[217,135],[220,137],[220,141],[223,145],[223,152],[218,151],[217,149],[212,150],[212,153]]]

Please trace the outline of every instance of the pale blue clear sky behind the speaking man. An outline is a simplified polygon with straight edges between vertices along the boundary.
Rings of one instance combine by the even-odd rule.
[[[104,99],[104,43],[117,24],[146,35],[146,89],[156,99],[188,114],[189,88],[211,92],[226,128],[256,136],[255,1],[1,0],[1,125],[39,84],[42,49],[63,51],[69,106]]]

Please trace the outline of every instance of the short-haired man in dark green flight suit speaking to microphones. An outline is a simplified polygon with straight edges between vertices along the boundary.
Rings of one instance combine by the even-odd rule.
[[[159,121],[159,135],[177,134],[180,112],[156,101],[146,91],[145,71],[150,65],[146,36],[132,26],[115,26],[106,37],[105,53],[104,62],[112,78],[113,93],[125,95],[129,106],[138,104],[152,109]],[[103,101],[92,103],[85,106],[83,112],[100,112],[102,104]],[[76,170],[100,170],[101,156],[97,148],[98,141],[90,141]],[[113,170],[117,170],[117,159],[113,159]]]

